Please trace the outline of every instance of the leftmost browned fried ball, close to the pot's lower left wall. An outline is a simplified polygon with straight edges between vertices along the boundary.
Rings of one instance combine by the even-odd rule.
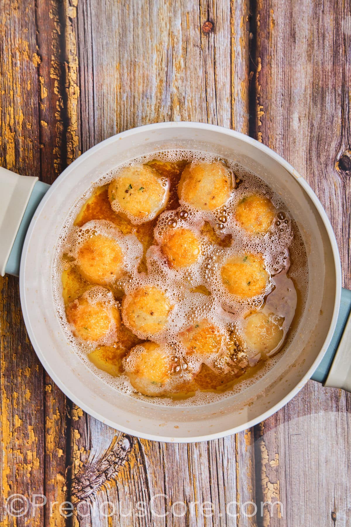
[[[83,340],[103,338],[115,323],[118,328],[121,317],[117,307],[107,307],[103,302],[91,304],[87,298],[79,297],[66,308],[69,324],[74,326],[73,333]]]

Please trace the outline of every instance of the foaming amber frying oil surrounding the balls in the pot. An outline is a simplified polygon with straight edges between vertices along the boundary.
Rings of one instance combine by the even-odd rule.
[[[232,178],[233,190],[222,207],[199,211],[189,206],[183,196],[178,197],[180,174],[187,163],[196,165],[214,161],[225,164]],[[169,187],[168,202],[154,220],[134,225],[130,218],[119,217],[112,211],[107,186],[126,167],[146,163],[159,171],[162,181]],[[252,194],[267,198],[276,210],[272,226],[263,234],[252,235],[235,217],[238,203]],[[162,252],[162,242],[166,232],[178,229],[187,229],[194,234],[199,243],[199,254],[194,264],[172,268]],[[111,238],[121,247],[123,275],[106,287],[92,288],[92,284],[81,280],[76,269],[79,269],[79,248],[87,239],[97,235]],[[246,255],[263,258],[269,279],[260,294],[239,298],[224,286],[222,266],[237,255],[243,260]],[[69,212],[59,235],[53,261],[53,295],[67,339],[84,364],[103,382],[121,393],[135,394],[126,373],[133,372],[143,346],[135,346],[133,341],[133,353],[124,359],[126,373],[117,377],[97,368],[88,359],[88,354],[97,345],[113,345],[119,333],[115,324],[111,324],[107,335],[98,341],[82,341],[74,336],[74,327],[66,318],[61,280],[63,273],[72,269],[78,277],[77,283],[82,286],[81,290],[76,288],[76,298],[83,295],[92,303],[101,299],[114,302],[121,310],[122,327],[133,333],[139,343],[156,343],[167,357],[171,375],[166,386],[159,390],[154,387],[154,397],[147,397],[148,401],[163,405],[205,404],[254,384],[284,356],[282,348],[294,337],[298,327],[295,313],[302,315],[308,290],[306,250],[296,222],[284,202],[253,172],[238,163],[218,160],[214,155],[198,151],[161,151],[119,165],[87,189]],[[124,297],[128,298],[143,288],[159,289],[171,306],[166,324],[157,333],[147,333],[131,326],[121,302]],[[79,291],[83,293],[79,295]],[[76,298],[72,301],[77,301]],[[247,316],[258,311],[279,320],[282,328],[279,345],[265,356],[245,343]],[[294,328],[291,327],[293,320]],[[215,328],[218,336],[216,349],[210,353],[189,353],[183,336],[189,331],[191,333],[189,328],[200,324]],[[198,382],[194,384],[196,378]]]

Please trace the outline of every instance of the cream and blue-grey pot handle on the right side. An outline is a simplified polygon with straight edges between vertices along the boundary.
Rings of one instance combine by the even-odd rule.
[[[323,386],[351,392],[351,291],[342,289],[332,341],[312,376]]]

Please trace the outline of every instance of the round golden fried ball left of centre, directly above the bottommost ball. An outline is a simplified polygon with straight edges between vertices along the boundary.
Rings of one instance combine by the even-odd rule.
[[[151,334],[164,328],[172,307],[163,291],[150,286],[139,287],[122,301],[125,323],[132,330]]]

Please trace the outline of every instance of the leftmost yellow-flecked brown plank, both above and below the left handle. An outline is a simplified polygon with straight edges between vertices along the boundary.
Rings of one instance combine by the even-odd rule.
[[[18,173],[39,172],[38,74],[34,2],[0,5],[0,165]],[[44,492],[43,368],[33,352],[19,305],[18,280],[0,281],[2,473],[1,524]],[[18,501],[11,496],[19,493]],[[5,500],[10,501],[5,507]],[[11,503],[13,509],[11,509]],[[17,525],[24,525],[24,517]],[[32,525],[43,524],[43,510]]]

